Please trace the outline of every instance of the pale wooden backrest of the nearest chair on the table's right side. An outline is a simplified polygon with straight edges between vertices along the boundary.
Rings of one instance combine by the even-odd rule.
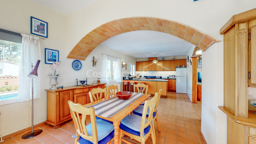
[[[142,121],[141,121],[141,127],[140,127],[140,133],[143,135],[144,134],[144,129],[150,125],[151,122],[153,122],[153,113],[156,107],[156,102],[158,99],[158,93],[155,93],[155,96],[151,99],[151,100],[146,100],[145,104],[144,104],[144,108],[143,108],[143,112],[142,112]],[[148,118],[147,118],[147,122],[146,121],[146,116],[147,116],[147,110],[149,107],[149,114],[148,114]],[[151,125],[152,126],[152,125]]]

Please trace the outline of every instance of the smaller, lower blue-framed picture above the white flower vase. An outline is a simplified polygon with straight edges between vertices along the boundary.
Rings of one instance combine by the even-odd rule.
[[[53,64],[54,62],[59,62],[59,51],[44,49],[44,63]]]

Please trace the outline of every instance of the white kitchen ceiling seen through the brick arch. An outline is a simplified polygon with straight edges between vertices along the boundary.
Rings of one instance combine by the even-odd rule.
[[[187,55],[192,45],[171,34],[145,30],[118,34],[100,44],[135,58]]]

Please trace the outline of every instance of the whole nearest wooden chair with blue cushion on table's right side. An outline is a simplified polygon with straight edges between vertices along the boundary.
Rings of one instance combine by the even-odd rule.
[[[152,142],[154,144],[156,143],[156,136],[153,131],[154,125],[152,125],[152,122],[157,99],[158,97],[156,93],[156,95],[151,100],[145,101],[142,116],[132,114],[127,115],[121,120],[119,143],[121,143],[121,140],[125,143],[131,143],[122,138],[123,135],[129,136],[130,138],[135,139],[142,144],[144,144],[147,138],[151,135]],[[146,115],[148,118],[146,118]]]

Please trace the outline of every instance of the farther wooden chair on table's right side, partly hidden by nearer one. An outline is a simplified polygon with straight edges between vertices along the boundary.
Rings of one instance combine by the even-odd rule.
[[[153,122],[156,121],[157,129],[158,129],[158,132],[159,132],[159,133],[160,133],[160,127],[159,127],[159,121],[158,121],[158,115],[157,115],[157,106],[158,106],[158,103],[159,103],[161,94],[162,94],[162,89],[160,89],[159,92],[156,92],[156,93],[155,93],[155,96],[157,95],[157,102],[156,102],[156,107],[155,107],[154,113],[153,113]],[[155,97],[155,96],[154,96],[154,97]],[[142,114],[143,114],[143,109],[144,109],[144,105],[139,105],[136,109],[133,110],[133,114],[142,116]],[[149,111],[149,110],[148,110],[148,111]],[[149,113],[149,112],[148,112],[148,113]],[[147,117],[148,117],[148,113],[147,113]],[[155,131],[155,130],[154,130],[154,131]]]

